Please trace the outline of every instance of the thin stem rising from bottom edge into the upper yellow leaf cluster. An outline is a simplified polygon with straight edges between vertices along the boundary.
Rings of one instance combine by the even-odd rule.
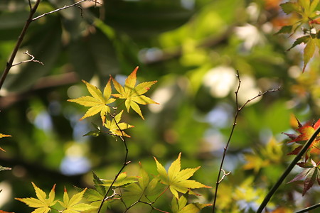
[[[124,143],[124,147],[125,147],[125,149],[126,149],[126,155],[124,156],[124,162],[123,162],[122,168],[119,170],[119,172],[118,172],[117,175],[115,176],[114,180],[112,181],[110,187],[108,188],[107,192],[105,193],[105,197],[103,198],[103,200],[102,200],[102,202],[101,202],[101,204],[100,204],[100,207],[99,207],[97,213],[100,213],[103,204],[104,204],[105,201],[107,200],[107,195],[109,194],[110,190],[112,189],[112,186],[114,185],[114,182],[116,182],[116,180],[117,180],[117,178],[119,177],[120,173],[122,173],[122,170],[124,170],[124,168],[125,168],[129,163],[131,163],[130,161],[127,161],[129,149],[128,149],[128,147],[127,147],[127,143],[126,143],[126,140],[125,140],[125,137],[124,137],[124,133],[123,133],[122,129],[119,127],[119,125],[118,125],[118,123],[117,123],[117,121],[116,121],[116,119],[115,119],[115,112],[116,112],[116,110],[117,110],[117,107],[114,107],[113,109],[114,109],[114,113],[113,113],[112,115],[110,114],[110,116],[112,117],[112,119],[114,120],[115,124],[117,125],[119,131],[120,131],[121,134],[122,134],[122,136],[118,136],[118,137],[119,137],[119,138],[122,140],[122,142]]]

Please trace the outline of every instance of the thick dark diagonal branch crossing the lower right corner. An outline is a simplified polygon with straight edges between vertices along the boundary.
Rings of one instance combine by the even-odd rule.
[[[319,133],[320,133],[320,126],[319,126],[318,129],[316,129],[316,131],[314,131],[314,133],[312,134],[311,138],[309,138],[309,140],[306,141],[306,143],[304,143],[304,146],[302,147],[302,150],[292,160],[292,162],[288,165],[287,169],[284,170],[284,173],[282,174],[282,176],[279,178],[279,180],[277,180],[277,182],[274,184],[272,189],[268,192],[267,196],[265,197],[265,199],[260,204],[259,209],[257,209],[257,213],[262,212],[262,210],[265,208],[267,203],[270,201],[270,199],[271,199],[272,195],[274,194],[274,192],[277,191],[278,187],[282,184],[284,179],[287,178],[287,175],[289,175],[289,173],[291,172],[292,168],[294,168],[294,165],[296,165],[299,162],[299,160],[301,160],[302,156],[304,155],[304,153],[306,153],[306,151],[308,150],[309,146],[311,145],[312,142],[314,142],[314,140],[316,139],[316,137],[318,136]],[[317,207],[319,207],[319,206],[320,206],[320,204],[318,204]]]

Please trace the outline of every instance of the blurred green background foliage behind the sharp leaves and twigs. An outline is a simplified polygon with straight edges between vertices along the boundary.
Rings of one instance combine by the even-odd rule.
[[[43,0],[37,15],[72,3]],[[160,105],[142,107],[145,121],[124,115],[135,126],[128,131],[129,175],[138,174],[139,161],[156,174],[153,156],[167,168],[181,151],[181,167],[201,165],[194,180],[214,186],[235,113],[235,70],[242,79],[240,104],[281,86],[242,111],[225,160],[231,175],[220,185],[218,212],[255,211],[291,159],[281,133],[297,128],[293,115],[307,121],[320,114],[320,61],[311,60],[302,74],[302,48],[286,52],[294,40],[274,35],[288,21],[280,3],[106,0],[84,8],[82,16],[73,7],[31,23],[16,62],[27,60],[22,52],[28,50],[44,65],[14,67],[0,92],[0,132],[12,136],[1,138],[6,153],[0,153],[0,164],[12,170],[0,173],[0,208],[30,212],[13,198],[33,196],[31,181],[47,192],[56,183],[62,192],[64,185],[92,186],[90,170],[114,178],[123,144],[107,135],[82,137],[94,129],[90,121],[99,119],[79,121],[86,109],[66,100],[87,94],[80,80],[101,89],[109,75],[121,82],[139,65],[139,82],[158,80],[149,97]],[[3,68],[27,16],[28,1],[0,1]],[[271,160],[245,169],[245,155]],[[198,199],[210,203],[213,192],[214,187],[199,190]],[[268,207],[294,212],[319,202],[319,187],[301,193],[301,185],[283,184]],[[159,200],[157,206],[169,211],[169,202]]]

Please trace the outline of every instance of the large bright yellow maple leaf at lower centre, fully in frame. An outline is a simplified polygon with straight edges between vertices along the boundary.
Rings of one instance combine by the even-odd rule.
[[[167,173],[164,166],[161,165],[161,163],[159,163],[154,157],[154,160],[156,160],[156,170],[158,170],[160,175],[161,183],[169,186],[174,197],[178,198],[178,192],[185,194],[186,192],[193,193],[191,189],[202,187],[210,188],[210,186],[203,185],[195,180],[188,180],[188,178],[190,178],[196,172],[196,170],[200,168],[200,166],[197,168],[187,168],[181,170],[180,159],[181,153],[179,153],[178,158],[171,163]]]

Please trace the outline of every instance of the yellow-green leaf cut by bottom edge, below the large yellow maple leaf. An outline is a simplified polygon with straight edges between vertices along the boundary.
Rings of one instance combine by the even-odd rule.
[[[197,213],[204,207],[212,206],[212,204],[191,203],[187,204],[186,197],[172,197],[171,210],[173,213]]]

